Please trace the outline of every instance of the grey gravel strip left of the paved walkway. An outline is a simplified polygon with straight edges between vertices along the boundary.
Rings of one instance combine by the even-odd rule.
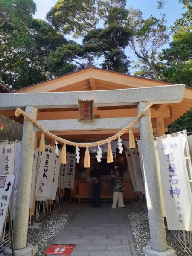
[[[64,211],[64,206],[57,207],[53,212],[46,215],[40,221],[41,224],[28,230],[28,242],[38,245],[36,256],[42,255],[49,244],[55,239],[61,229],[70,220],[72,214]]]

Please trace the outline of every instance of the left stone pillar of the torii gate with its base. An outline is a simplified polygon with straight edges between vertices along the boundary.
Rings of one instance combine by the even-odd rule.
[[[28,106],[25,108],[25,111],[34,119],[37,119],[38,108]],[[27,243],[34,145],[34,125],[24,117],[19,182],[17,186],[13,227],[15,256],[33,256],[37,252],[37,247]],[[6,247],[3,253],[6,256],[11,256],[11,247]]]

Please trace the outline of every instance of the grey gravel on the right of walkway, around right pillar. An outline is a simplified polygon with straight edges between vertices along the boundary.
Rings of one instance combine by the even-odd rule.
[[[150,233],[147,212],[127,212],[131,233],[133,236],[137,256],[143,255],[143,247],[150,244]],[[171,246],[177,256],[188,256],[171,231],[166,230],[167,244]]]

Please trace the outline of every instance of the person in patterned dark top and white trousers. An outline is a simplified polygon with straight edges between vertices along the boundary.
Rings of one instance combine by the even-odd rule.
[[[113,177],[113,204],[112,208],[116,208],[117,203],[119,208],[125,207],[123,203],[123,171],[120,163],[115,163]]]

